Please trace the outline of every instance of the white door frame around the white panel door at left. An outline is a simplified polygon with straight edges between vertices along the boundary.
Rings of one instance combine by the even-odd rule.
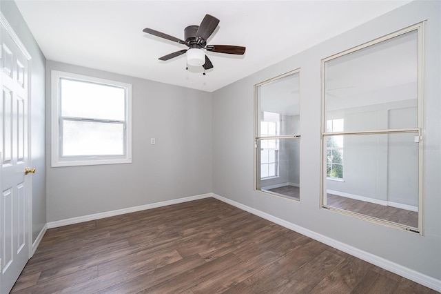
[[[28,75],[28,150],[27,150],[27,157],[28,157],[28,162],[27,162],[27,166],[30,167],[30,164],[32,163],[32,153],[31,153],[31,117],[32,117],[32,112],[31,112],[31,101],[32,101],[32,96],[31,96],[31,73],[32,73],[32,63],[31,63],[31,55],[28,52],[28,50],[25,48],[25,46],[23,45],[23,43],[20,41],[19,37],[17,36],[17,34],[15,33],[14,29],[12,29],[12,26],[10,26],[8,20],[6,19],[6,17],[3,16],[3,13],[1,13],[0,11],[0,26],[2,26],[6,32],[8,32],[8,35],[12,38],[12,40],[14,41],[14,43],[17,45],[17,47],[19,48],[19,50],[21,50],[21,52],[23,53],[23,55],[25,56],[26,60],[27,60],[27,75]],[[0,44],[1,45],[1,44]],[[1,48],[1,46],[0,46]],[[1,54],[1,49],[0,49],[0,54]],[[0,85],[2,85],[2,81],[1,81],[1,75],[0,75]],[[1,154],[1,153],[0,153]],[[1,161],[1,158],[0,158]],[[24,171],[23,171],[24,173]],[[28,252],[28,259],[30,259],[30,257],[32,257],[33,255],[33,240],[32,240],[32,176],[31,177],[27,177],[26,180],[28,181],[28,189],[27,189],[27,194],[26,195],[28,197],[28,240],[29,240],[29,252]],[[1,258],[0,258],[1,260]],[[0,264],[1,266],[1,264]]]

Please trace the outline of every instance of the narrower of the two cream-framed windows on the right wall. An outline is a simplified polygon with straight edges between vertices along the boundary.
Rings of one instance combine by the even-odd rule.
[[[299,70],[255,89],[255,189],[300,199]]]

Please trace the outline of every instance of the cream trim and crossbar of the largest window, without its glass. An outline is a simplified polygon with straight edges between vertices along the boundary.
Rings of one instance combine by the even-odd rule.
[[[344,50],[342,52],[338,52],[335,55],[331,55],[322,59],[321,61],[321,88],[322,88],[322,124],[321,124],[321,137],[320,137],[320,208],[325,208],[327,210],[335,211],[338,213],[342,213],[345,215],[353,216],[358,219],[366,219],[370,222],[374,222],[377,224],[382,224],[384,226],[389,226],[392,228],[398,228],[403,231],[409,231],[412,233],[417,233],[418,235],[424,235],[423,232],[423,210],[424,210],[424,179],[423,179],[423,163],[424,163],[424,30],[426,26],[426,21],[422,21],[420,23],[416,23],[407,28],[402,28],[401,30],[397,30],[396,32],[391,32],[390,34],[384,35],[382,37],[378,37],[377,39],[373,39],[371,41],[367,41],[366,43],[362,43],[359,46],[355,46],[348,50]],[[326,131],[326,115],[325,115],[325,62],[331,59],[336,59],[338,57],[342,57],[344,55],[348,55],[352,52],[356,52],[363,48],[367,48],[372,45],[376,45],[381,43],[382,41],[387,41],[394,37],[398,37],[400,35],[404,35],[407,32],[411,32],[416,30],[418,32],[418,112],[417,112],[417,127],[416,128],[400,128],[400,129],[381,129],[381,130],[360,130],[360,131],[352,131],[352,132],[334,132],[328,133]],[[323,187],[324,182],[328,178],[326,177],[326,170],[324,168],[325,161],[325,140],[326,137],[330,135],[369,135],[369,134],[396,134],[396,133],[416,133],[419,139],[419,152],[418,152],[418,228],[413,228],[410,226],[406,226],[404,224],[398,224],[395,222],[389,222],[385,219],[380,219],[377,217],[370,217],[369,215],[362,215],[360,213],[354,213],[349,210],[342,210],[339,208],[333,208],[332,206],[327,206],[324,204],[324,195],[323,195]]]

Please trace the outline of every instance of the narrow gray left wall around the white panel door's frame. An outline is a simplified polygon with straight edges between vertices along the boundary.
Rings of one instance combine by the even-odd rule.
[[[32,242],[46,224],[45,176],[45,62],[37,42],[15,5],[14,1],[0,1],[0,10],[21,43],[30,53],[32,77],[30,93],[31,163],[37,173],[32,175]]]

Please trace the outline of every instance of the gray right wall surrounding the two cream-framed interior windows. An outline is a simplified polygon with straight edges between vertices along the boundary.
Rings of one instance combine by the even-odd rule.
[[[409,3],[214,92],[213,192],[441,279],[440,14],[439,1]],[[320,209],[320,59],[425,19],[424,236]],[[301,68],[300,203],[253,190],[253,86],[295,68]]]

